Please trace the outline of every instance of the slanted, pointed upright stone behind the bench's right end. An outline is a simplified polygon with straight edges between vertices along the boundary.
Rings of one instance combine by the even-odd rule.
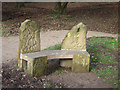
[[[86,51],[87,27],[81,22],[74,26],[64,38],[62,50],[84,50]]]

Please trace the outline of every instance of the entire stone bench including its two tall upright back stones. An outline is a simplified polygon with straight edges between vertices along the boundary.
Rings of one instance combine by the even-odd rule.
[[[61,44],[61,50],[40,49],[40,27],[35,21],[25,20],[20,26],[18,67],[32,76],[41,76],[47,72],[47,61],[63,59],[71,64],[73,72],[88,72],[90,55],[86,51],[87,27],[79,23],[67,33]],[[71,58],[69,62],[66,59]],[[62,64],[61,64],[62,63]]]

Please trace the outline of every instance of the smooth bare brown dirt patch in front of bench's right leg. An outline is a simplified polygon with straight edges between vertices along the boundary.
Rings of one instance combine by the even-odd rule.
[[[66,71],[64,74],[50,74],[47,76],[47,80],[54,84],[61,83],[65,88],[113,88],[112,85],[103,84],[104,80],[93,72],[73,73]]]

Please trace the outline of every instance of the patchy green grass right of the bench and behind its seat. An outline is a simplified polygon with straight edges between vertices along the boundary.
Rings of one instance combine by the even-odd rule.
[[[105,79],[106,83],[118,86],[118,49],[120,37],[98,38],[92,37],[87,40],[87,51],[90,54],[90,70]],[[60,50],[57,44],[45,50]],[[61,73],[60,71],[56,71]]]

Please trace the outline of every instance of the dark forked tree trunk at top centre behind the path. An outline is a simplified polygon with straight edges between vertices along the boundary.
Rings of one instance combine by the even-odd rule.
[[[55,6],[55,9],[54,9],[54,13],[56,13],[56,14],[65,13],[65,10],[67,8],[67,4],[68,4],[68,2],[64,2],[64,3],[57,2],[56,6]]]

